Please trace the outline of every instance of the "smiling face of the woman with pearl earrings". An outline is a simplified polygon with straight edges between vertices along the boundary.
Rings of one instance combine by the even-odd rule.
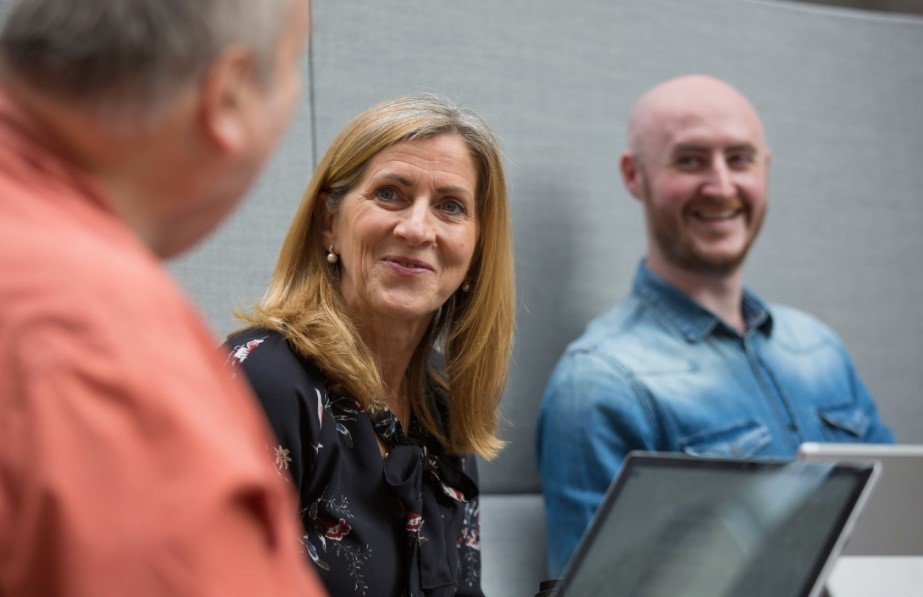
[[[341,292],[362,323],[427,325],[458,290],[478,236],[477,170],[455,134],[396,143],[373,157],[324,221]]]

